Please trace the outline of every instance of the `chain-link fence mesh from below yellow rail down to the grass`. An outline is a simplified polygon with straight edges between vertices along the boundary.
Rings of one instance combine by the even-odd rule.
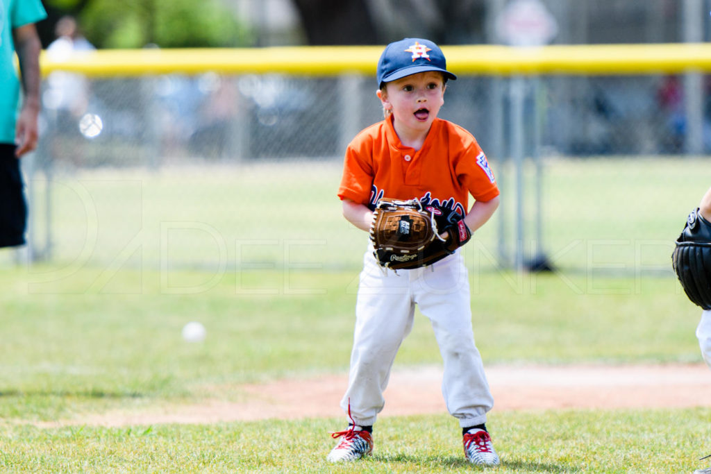
[[[69,84],[71,92],[58,89]],[[587,243],[565,250],[574,241],[673,240],[711,185],[711,109],[702,93],[702,144],[689,158],[685,85],[684,75],[450,82],[440,117],[476,136],[503,197],[467,248],[471,264],[506,267],[523,252],[586,269]],[[31,197],[23,252],[65,272],[358,269],[367,237],[341,217],[336,189],[346,144],[382,119],[375,90],[373,77],[358,74],[50,75],[41,144],[23,160]],[[663,210],[645,204],[657,201]],[[654,215],[662,227],[646,222]],[[660,268],[664,245],[650,257]],[[638,266],[634,252],[625,249],[621,264]]]

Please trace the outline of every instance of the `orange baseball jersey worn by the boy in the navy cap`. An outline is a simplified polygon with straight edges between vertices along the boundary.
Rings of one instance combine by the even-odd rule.
[[[423,205],[469,211],[469,194],[488,201],[498,196],[486,155],[469,131],[435,119],[422,148],[402,145],[392,116],[355,136],[346,150],[338,197],[371,210],[380,198],[418,198]]]

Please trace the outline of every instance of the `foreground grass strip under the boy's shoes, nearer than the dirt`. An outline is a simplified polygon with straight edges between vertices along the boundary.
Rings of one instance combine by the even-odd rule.
[[[494,414],[496,470],[473,468],[444,416],[388,419],[356,465],[324,461],[333,420],[214,425],[4,427],[4,472],[691,473],[709,452],[709,409]]]

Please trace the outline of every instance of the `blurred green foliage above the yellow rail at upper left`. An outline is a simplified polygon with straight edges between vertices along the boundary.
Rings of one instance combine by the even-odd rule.
[[[220,0],[44,0],[48,20],[39,25],[46,45],[54,25],[75,16],[97,48],[232,47],[252,44],[250,27]]]

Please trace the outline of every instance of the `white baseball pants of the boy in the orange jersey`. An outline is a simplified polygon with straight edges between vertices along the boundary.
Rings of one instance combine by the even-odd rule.
[[[444,362],[442,394],[449,413],[464,428],[482,424],[493,406],[471,328],[469,276],[455,254],[412,270],[383,269],[372,247],[365,252],[355,306],[355,331],[348,390],[355,424],[370,426],[385,406],[383,391],[392,362],[412,330],[415,305],[429,318]]]

